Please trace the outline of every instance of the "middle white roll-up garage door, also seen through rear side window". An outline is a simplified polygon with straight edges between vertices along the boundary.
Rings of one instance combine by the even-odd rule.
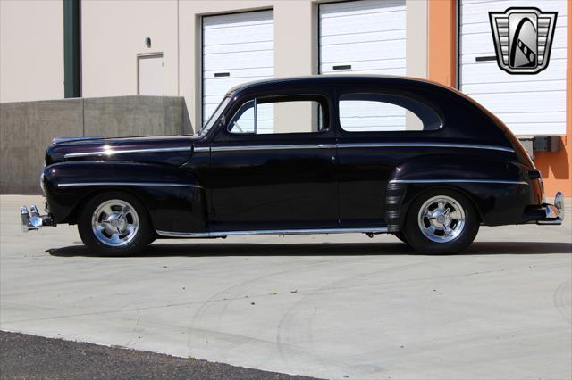
[[[405,0],[320,4],[320,73],[406,74]],[[406,129],[405,109],[391,104],[343,102],[346,130]]]

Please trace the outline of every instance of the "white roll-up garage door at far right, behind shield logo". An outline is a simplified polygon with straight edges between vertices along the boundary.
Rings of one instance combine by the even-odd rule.
[[[509,74],[492,60],[495,48],[489,12],[515,6],[558,12],[549,66],[538,74]],[[566,134],[567,11],[566,0],[461,1],[460,89],[501,118],[517,136]]]

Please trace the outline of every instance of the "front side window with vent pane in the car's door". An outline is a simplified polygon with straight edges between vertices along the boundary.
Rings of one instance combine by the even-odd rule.
[[[321,132],[325,124],[324,106],[307,97],[257,98],[244,103],[228,123],[235,134],[268,135]]]

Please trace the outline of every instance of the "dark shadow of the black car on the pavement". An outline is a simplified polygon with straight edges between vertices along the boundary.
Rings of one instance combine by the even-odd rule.
[[[572,244],[543,242],[476,242],[461,255],[571,253]],[[97,256],[84,245],[71,245],[46,251],[52,256]],[[151,244],[138,257],[165,256],[349,256],[421,255],[401,243],[321,243],[321,244]]]

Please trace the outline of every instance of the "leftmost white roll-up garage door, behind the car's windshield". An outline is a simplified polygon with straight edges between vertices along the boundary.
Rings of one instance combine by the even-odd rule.
[[[203,17],[203,124],[234,86],[274,71],[272,11]]]

